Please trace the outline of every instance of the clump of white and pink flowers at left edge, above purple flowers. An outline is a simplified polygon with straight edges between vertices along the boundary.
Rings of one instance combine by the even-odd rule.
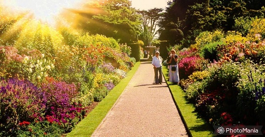
[[[39,50],[27,51],[25,54],[18,54],[14,47],[0,46],[0,68],[6,72],[1,76],[27,78],[38,85],[49,76],[55,66],[51,60],[45,59],[45,55]]]

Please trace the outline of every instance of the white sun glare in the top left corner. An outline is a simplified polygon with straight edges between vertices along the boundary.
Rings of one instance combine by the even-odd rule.
[[[29,11],[35,19],[54,25],[55,17],[63,8],[74,8],[82,0],[2,0],[3,4],[18,11]]]

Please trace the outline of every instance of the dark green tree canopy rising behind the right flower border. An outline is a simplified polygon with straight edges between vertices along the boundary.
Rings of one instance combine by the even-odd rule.
[[[187,46],[200,32],[236,29],[241,17],[264,18],[264,6],[265,0],[173,0],[168,2],[159,25],[165,29],[168,22],[178,24]]]

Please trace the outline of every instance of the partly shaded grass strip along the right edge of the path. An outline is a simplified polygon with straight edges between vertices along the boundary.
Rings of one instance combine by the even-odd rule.
[[[163,66],[163,76],[168,79],[167,66]],[[179,85],[175,85],[172,82],[166,80],[166,83],[171,92],[172,98],[179,110],[183,122],[187,126],[187,130],[192,137],[215,137],[213,135],[213,127],[205,122],[203,118],[195,112],[195,106],[190,104],[185,99],[183,89]]]

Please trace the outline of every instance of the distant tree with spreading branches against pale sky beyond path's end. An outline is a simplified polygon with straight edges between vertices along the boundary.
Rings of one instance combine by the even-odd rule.
[[[162,8],[153,8],[148,11],[139,11],[142,16],[142,24],[140,28],[140,40],[143,41],[144,46],[150,46],[152,40],[156,37],[158,32],[158,22],[163,15]]]

